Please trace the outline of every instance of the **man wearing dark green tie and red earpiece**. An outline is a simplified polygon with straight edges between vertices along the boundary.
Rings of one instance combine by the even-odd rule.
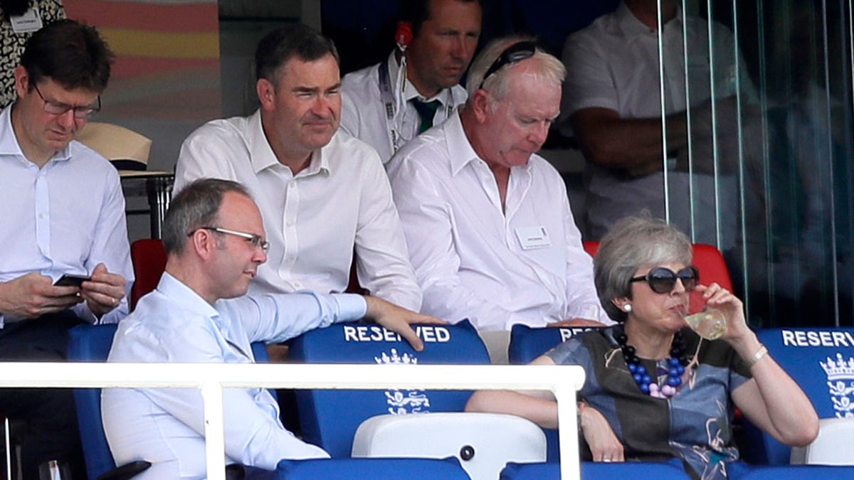
[[[388,60],[342,79],[341,127],[383,163],[465,103],[459,85],[477,48],[480,0],[404,0]]]

